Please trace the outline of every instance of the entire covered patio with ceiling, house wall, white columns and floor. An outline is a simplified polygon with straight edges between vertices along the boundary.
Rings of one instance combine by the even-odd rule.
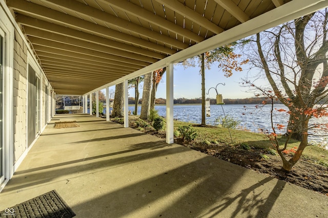
[[[174,63],[327,6],[0,0],[0,210],[55,189],[77,217],[328,217],[321,194],[173,143]],[[128,80],[160,68],[166,140],[128,128]],[[87,114],[118,83],[124,125]],[[56,94],[83,96],[84,114],[55,115]]]

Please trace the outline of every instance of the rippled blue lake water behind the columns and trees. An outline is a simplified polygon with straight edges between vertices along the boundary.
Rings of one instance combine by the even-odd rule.
[[[215,124],[215,119],[219,116],[223,116],[223,111],[226,115],[233,117],[240,121],[242,128],[249,129],[252,132],[259,132],[259,129],[268,129],[271,130],[271,118],[270,118],[270,105],[264,105],[263,107],[256,108],[256,105],[244,105],[241,104],[224,104],[224,105],[211,105],[210,106],[210,117],[206,117],[206,124],[213,125]],[[288,111],[288,107],[285,105],[275,105],[277,109],[284,109]],[[223,108],[223,110],[222,110]],[[104,114],[106,114],[106,109],[104,109]],[[131,112],[134,111],[134,106],[129,106]],[[158,111],[160,116],[166,117],[166,106],[160,105],[155,106],[155,110]],[[140,114],[141,106],[138,107],[138,114]],[[174,119],[201,123],[201,105],[174,105],[173,107],[173,117]],[[274,124],[282,124],[287,126],[289,115],[286,112],[274,112],[273,120]],[[328,117],[324,118],[313,118],[310,120],[310,123],[328,123]],[[286,129],[282,129],[280,133],[284,133]],[[272,132],[272,131],[270,131]],[[317,130],[317,135],[325,135],[327,133],[321,130]],[[328,149],[328,136],[318,137],[309,135],[310,143],[319,143],[322,146],[325,146]]]

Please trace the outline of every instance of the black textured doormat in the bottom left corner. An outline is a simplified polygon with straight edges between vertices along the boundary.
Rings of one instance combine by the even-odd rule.
[[[61,199],[56,190],[40,195],[0,212],[0,217],[49,217],[71,218],[72,209]]]

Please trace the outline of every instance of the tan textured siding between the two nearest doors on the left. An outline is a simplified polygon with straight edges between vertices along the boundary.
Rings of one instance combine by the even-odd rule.
[[[13,71],[14,163],[26,149],[27,45],[15,31]]]

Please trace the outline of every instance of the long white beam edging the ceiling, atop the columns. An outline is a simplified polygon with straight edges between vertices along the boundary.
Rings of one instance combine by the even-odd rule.
[[[293,0],[278,8],[275,8],[267,13],[259,15],[253,19],[246,21],[234,28],[215,35],[207,40],[197,43],[185,50],[177,52],[169,57],[159,60],[150,66],[142,68],[134,73],[121,77],[113,82],[100,86],[99,88],[88,92],[93,93],[98,90],[105,89],[107,86],[112,86],[129,80],[137,76],[158,70],[165,67],[168,63],[176,63],[181,60],[193,57],[195,55],[210,51],[217,47],[227,45],[228,43],[237,41],[239,39],[251,36],[261,31],[273,28],[290,20],[296,19],[300,16],[310,14],[322,8],[328,7],[328,0]]]

